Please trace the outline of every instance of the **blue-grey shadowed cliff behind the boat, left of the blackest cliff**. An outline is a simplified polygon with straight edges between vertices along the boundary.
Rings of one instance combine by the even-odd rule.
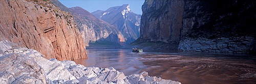
[[[140,40],[178,42],[184,1],[148,0],[142,5]]]

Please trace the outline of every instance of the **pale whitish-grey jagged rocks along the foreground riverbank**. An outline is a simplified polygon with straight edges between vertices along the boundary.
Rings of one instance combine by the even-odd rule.
[[[84,67],[73,61],[47,60],[36,50],[19,48],[8,41],[0,41],[0,47],[1,83],[180,83],[151,77],[147,72],[125,76],[113,67]]]

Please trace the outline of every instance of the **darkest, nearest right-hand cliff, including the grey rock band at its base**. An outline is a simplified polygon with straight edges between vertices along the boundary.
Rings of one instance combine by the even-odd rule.
[[[185,1],[182,51],[255,52],[255,1]]]

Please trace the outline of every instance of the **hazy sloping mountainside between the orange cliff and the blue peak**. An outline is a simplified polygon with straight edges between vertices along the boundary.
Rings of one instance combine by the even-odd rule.
[[[119,32],[117,27],[110,25],[108,22],[105,22],[99,18],[96,18],[87,10],[84,10],[80,7],[67,8],[57,0],[50,1],[54,5],[58,6],[61,10],[69,12],[72,14],[72,16],[74,16],[77,27],[83,34],[83,38],[86,41],[87,46],[89,46],[89,43],[99,41],[100,39],[103,39],[104,41],[119,43],[120,45],[123,45],[125,42],[123,35],[121,32]],[[115,38],[114,40],[106,39],[111,34],[118,38]]]

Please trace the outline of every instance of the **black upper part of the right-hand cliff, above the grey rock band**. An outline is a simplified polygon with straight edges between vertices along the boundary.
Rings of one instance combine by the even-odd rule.
[[[185,1],[185,37],[253,36],[256,21],[255,1]]]

